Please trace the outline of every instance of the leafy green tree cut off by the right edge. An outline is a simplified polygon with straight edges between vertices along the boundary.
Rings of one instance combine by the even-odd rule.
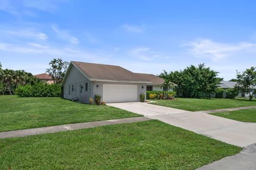
[[[256,68],[251,67],[242,73],[237,71],[236,78],[237,84],[235,88],[249,94],[249,98],[252,100],[253,95],[255,94],[255,91],[252,89],[256,87]]]

